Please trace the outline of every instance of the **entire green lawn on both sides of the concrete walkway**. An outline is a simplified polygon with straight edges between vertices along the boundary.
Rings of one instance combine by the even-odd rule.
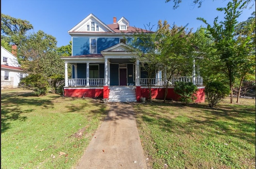
[[[148,169],[255,169],[255,100],[228,101],[214,108],[158,100],[136,104]],[[2,90],[1,169],[76,167],[107,105]]]

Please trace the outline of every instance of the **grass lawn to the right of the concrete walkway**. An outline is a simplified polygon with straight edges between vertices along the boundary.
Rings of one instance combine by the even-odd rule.
[[[139,134],[154,169],[255,169],[255,99],[214,108],[179,102],[135,106]]]

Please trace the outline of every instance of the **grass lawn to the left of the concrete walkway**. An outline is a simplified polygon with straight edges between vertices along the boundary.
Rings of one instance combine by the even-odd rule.
[[[108,107],[97,99],[1,91],[1,169],[76,167]]]

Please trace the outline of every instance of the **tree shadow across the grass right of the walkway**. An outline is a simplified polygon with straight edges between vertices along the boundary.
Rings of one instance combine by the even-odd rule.
[[[149,112],[146,112],[144,107],[147,107]],[[157,110],[156,107],[158,107]],[[191,108],[192,111],[187,111],[188,108]],[[173,109],[183,110],[185,114],[180,113],[178,117],[169,117],[166,114],[170,112],[168,109],[170,111]],[[186,112],[191,113],[190,117],[189,115],[186,116]],[[143,121],[159,125],[162,131],[192,135],[194,129],[196,131],[208,130],[200,133],[200,135],[206,137],[232,136],[255,145],[255,137],[252,134],[255,133],[255,107],[253,106],[220,105],[212,108],[200,103],[183,106],[179,102],[153,101],[138,106],[137,113],[142,114]]]

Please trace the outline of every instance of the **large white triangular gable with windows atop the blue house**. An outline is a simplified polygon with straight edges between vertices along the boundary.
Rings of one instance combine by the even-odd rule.
[[[76,24],[68,33],[72,32],[87,32],[87,33],[97,33],[97,32],[114,32],[101,20],[99,20],[94,14],[89,14],[81,22]]]

